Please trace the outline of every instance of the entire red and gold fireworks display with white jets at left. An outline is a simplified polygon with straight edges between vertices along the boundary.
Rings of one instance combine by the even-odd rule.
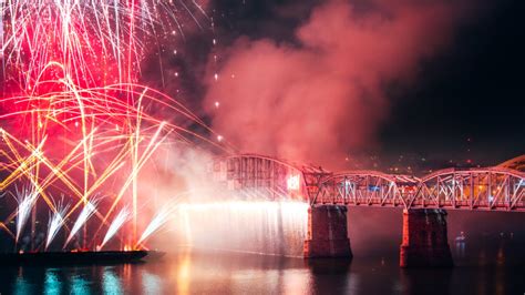
[[[130,216],[132,243],[140,244],[169,213],[161,210],[137,242],[137,176],[153,154],[187,144],[188,138],[223,149],[207,135],[150,114],[148,109],[164,109],[217,136],[177,100],[137,83],[148,43],[184,35],[184,19],[198,27],[207,19],[196,1],[188,3],[0,1],[0,191],[20,183],[32,187],[17,193],[17,212],[2,223],[10,233],[4,224],[17,218],[17,243],[31,210],[45,204],[51,213],[44,248],[79,211],[71,231],[64,226],[64,247],[82,227],[85,247],[92,216],[100,222],[96,233],[109,228],[102,246]],[[68,195],[71,206],[56,206],[53,192]],[[99,207],[93,200],[99,193],[111,196],[110,204]],[[132,210],[121,210],[110,224],[113,211],[130,204]]]

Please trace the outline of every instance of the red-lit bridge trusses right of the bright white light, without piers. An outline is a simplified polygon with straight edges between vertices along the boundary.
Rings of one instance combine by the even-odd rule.
[[[502,169],[442,170],[423,179],[374,171],[326,179],[312,204],[525,211],[525,173]]]

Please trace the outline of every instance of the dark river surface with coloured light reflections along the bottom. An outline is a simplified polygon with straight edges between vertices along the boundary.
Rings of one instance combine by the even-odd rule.
[[[224,252],[112,266],[2,267],[1,294],[523,294],[524,267],[400,269],[395,260],[303,261]]]

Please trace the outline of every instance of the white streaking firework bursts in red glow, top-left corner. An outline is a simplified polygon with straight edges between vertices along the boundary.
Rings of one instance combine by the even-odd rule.
[[[34,90],[35,79],[54,63],[83,87],[132,82],[146,44],[176,31],[184,37],[181,22],[187,16],[198,26],[207,19],[195,1],[1,1],[3,68],[25,90]]]

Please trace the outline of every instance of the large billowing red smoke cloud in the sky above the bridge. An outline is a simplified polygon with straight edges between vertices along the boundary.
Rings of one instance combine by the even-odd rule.
[[[389,115],[385,83],[410,82],[457,20],[452,2],[394,2],[358,12],[329,1],[297,29],[298,44],[237,40],[205,100],[213,128],[241,152],[332,167],[370,146]]]

